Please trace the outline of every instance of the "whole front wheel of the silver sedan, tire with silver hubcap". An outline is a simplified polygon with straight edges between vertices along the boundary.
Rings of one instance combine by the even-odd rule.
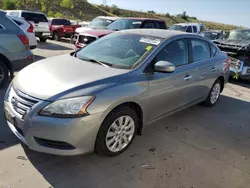
[[[121,120],[122,126],[119,125],[119,120]],[[98,131],[95,152],[99,155],[108,157],[116,156],[122,153],[133,142],[138,126],[139,119],[134,110],[128,106],[122,106],[115,109],[105,118]],[[115,130],[114,127],[117,129]],[[119,131],[119,128],[122,129]],[[111,136],[108,137],[108,133]]]

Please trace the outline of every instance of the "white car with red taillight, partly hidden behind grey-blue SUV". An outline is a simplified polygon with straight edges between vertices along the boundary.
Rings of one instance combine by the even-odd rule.
[[[25,32],[29,39],[30,49],[35,49],[37,47],[37,40],[32,23],[21,17],[9,16],[9,18],[12,19]]]

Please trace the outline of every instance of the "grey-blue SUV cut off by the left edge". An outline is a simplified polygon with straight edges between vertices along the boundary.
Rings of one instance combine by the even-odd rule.
[[[0,88],[20,70],[33,62],[29,39],[17,24],[0,10]]]

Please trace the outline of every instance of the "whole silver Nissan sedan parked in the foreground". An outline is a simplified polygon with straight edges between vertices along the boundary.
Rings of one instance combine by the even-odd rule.
[[[215,105],[228,75],[227,55],[203,37],[120,31],[23,69],[7,90],[5,117],[32,150],[115,156],[156,120]]]

